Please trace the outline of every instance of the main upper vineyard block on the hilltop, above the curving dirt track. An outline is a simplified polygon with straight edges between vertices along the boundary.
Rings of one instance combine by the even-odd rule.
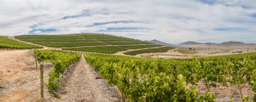
[[[66,34],[66,35],[27,35],[15,36],[16,39],[54,48],[104,45],[152,44],[131,38],[110,36],[107,34]]]

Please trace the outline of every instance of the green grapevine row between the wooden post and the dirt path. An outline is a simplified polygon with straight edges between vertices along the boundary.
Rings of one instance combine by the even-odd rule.
[[[59,77],[65,72],[65,69],[71,64],[74,64],[79,60],[81,54],[75,54],[71,52],[63,52],[58,50],[36,50],[36,59],[39,62],[51,62],[53,64],[53,70],[48,73],[48,89],[55,97],[60,98],[54,91],[58,89]]]

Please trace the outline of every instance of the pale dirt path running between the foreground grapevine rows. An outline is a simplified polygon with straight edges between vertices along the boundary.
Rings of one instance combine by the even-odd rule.
[[[86,63],[82,56],[77,65],[67,74],[65,86],[58,91],[61,99],[46,95],[46,101],[86,101],[86,102],[113,102],[119,101],[114,88],[108,88],[94,69]]]

